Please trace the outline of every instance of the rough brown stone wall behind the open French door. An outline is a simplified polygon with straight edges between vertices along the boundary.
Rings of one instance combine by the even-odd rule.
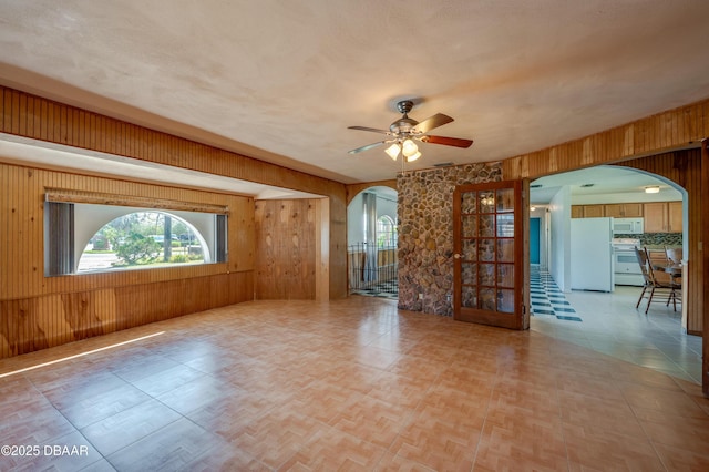
[[[453,315],[453,191],[502,179],[500,163],[407,172],[399,191],[399,308]]]

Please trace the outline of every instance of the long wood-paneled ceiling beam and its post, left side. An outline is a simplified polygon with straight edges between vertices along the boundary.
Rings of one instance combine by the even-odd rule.
[[[323,195],[330,215],[325,291],[333,299],[347,296],[345,184],[4,86],[0,86],[0,132]]]

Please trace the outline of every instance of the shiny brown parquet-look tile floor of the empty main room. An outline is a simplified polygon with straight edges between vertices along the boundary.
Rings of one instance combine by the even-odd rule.
[[[700,387],[563,339],[571,302],[547,335],[255,301],[7,359],[0,470],[709,470]]]

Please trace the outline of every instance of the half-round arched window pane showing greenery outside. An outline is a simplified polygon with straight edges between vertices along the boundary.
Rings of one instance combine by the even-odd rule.
[[[84,247],[76,273],[208,261],[205,239],[192,224],[171,213],[143,211],[102,226]]]

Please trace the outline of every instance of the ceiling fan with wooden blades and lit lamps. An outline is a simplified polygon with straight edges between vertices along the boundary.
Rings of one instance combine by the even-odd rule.
[[[452,117],[444,115],[443,113],[436,113],[433,116],[429,116],[422,122],[418,122],[409,117],[409,112],[413,107],[411,100],[402,100],[397,103],[397,110],[403,114],[399,120],[389,125],[389,130],[378,130],[376,127],[367,126],[348,126],[349,130],[371,131],[373,133],[381,133],[389,136],[384,141],[378,143],[368,144],[366,146],[358,147],[350,151],[350,154],[361,153],[362,151],[371,150],[372,147],[380,146],[382,144],[391,144],[384,151],[389,157],[397,161],[399,154],[403,154],[405,162],[415,161],[421,157],[419,146],[414,143],[421,141],[430,144],[443,144],[444,146],[455,147],[470,147],[473,144],[472,140],[462,140],[460,137],[445,137],[433,136],[428,134],[429,131],[442,126],[453,121]]]

